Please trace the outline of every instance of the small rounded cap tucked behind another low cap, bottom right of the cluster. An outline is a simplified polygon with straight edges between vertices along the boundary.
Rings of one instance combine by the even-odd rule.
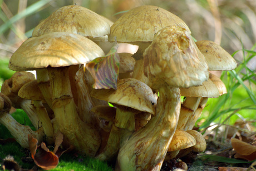
[[[203,135],[197,132],[196,130],[186,130],[186,132],[192,135],[196,140],[196,144],[190,148],[194,152],[199,152],[199,153],[204,152],[204,150],[206,149],[206,142]]]

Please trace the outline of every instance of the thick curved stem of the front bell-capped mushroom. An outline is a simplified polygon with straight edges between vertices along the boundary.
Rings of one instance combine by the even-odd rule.
[[[117,157],[121,170],[160,170],[180,112],[180,90],[159,88],[156,115],[120,149]]]

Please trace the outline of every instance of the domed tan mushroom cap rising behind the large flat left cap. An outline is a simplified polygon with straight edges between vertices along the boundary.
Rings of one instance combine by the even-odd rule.
[[[32,36],[51,32],[76,33],[85,37],[102,37],[110,33],[110,24],[104,17],[85,7],[72,5],[57,9],[34,29]]]

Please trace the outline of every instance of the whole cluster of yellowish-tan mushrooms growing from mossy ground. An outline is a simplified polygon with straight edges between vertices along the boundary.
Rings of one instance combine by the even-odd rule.
[[[118,54],[112,48],[105,56],[98,45],[107,40],[139,49]],[[95,77],[91,72],[102,66],[106,71]],[[160,170],[164,160],[205,150],[203,136],[191,129],[207,99],[227,93],[209,71],[236,66],[218,44],[194,42],[185,22],[163,8],[137,7],[112,23],[90,9],[65,6],[13,53],[9,68],[17,72],[3,83],[0,123],[24,148],[28,134],[51,145],[61,132],[81,153],[116,160],[116,170]],[[115,86],[96,89],[95,82]],[[11,105],[38,130],[17,124]]]

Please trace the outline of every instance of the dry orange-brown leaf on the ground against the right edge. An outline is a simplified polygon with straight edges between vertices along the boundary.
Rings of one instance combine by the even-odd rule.
[[[239,139],[231,139],[232,147],[234,148],[236,154],[235,158],[242,158],[252,161],[256,159],[256,147],[248,143],[242,142]]]

